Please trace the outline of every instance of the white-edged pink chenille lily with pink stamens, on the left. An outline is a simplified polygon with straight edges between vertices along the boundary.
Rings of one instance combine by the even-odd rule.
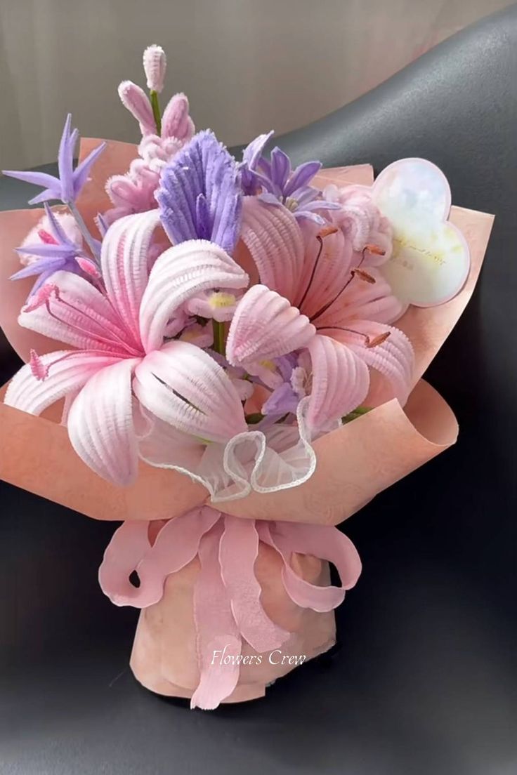
[[[148,413],[187,438],[225,444],[246,431],[240,396],[209,353],[167,341],[171,320],[192,296],[243,288],[246,273],[219,246],[188,240],[161,253],[148,269],[157,211],[116,222],[102,243],[103,284],[57,272],[19,323],[73,346],[42,356],[13,378],[5,403],[40,415],[66,398],[72,446],[115,484],[137,475],[138,443]]]

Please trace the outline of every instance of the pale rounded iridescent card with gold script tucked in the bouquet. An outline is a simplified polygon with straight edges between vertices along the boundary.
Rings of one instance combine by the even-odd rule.
[[[450,186],[425,159],[401,159],[381,172],[374,202],[393,227],[393,253],[381,270],[406,304],[433,307],[463,288],[470,270],[467,242],[447,218]]]

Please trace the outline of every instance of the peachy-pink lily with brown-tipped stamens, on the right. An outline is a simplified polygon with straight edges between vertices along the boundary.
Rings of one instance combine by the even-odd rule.
[[[378,268],[384,251],[366,244],[357,253],[342,229],[301,229],[288,209],[253,197],[244,198],[241,239],[260,284],[236,307],[226,344],[229,363],[263,380],[269,368],[273,386],[282,381],[275,359],[300,353],[303,374],[292,372],[293,387],[309,438],[336,427],[367,399],[371,370],[377,377],[368,404],[398,398],[404,405],[413,351],[390,325],[403,308]]]

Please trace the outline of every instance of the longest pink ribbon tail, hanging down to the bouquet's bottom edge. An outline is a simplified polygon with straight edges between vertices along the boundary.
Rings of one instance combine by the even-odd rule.
[[[201,570],[194,587],[194,618],[198,633],[199,684],[191,698],[191,708],[212,710],[229,697],[239,680],[236,660],[225,664],[217,659],[241,653],[242,639],[232,615],[229,596],[221,578],[219,539],[222,524],[215,525],[199,546]],[[220,653],[219,653],[220,652]],[[215,657],[215,663],[214,663]],[[212,664],[213,663],[213,664]]]

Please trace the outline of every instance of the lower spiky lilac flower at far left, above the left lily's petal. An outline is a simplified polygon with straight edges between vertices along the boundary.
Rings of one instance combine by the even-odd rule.
[[[26,253],[29,256],[36,256],[37,260],[29,263],[28,266],[20,269],[16,274],[12,274],[11,280],[22,280],[24,277],[35,277],[36,283],[29,293],[32,296],[54,272],[66,270],[81,274],[89,260],[81,248],[67,237],[64,229],[53,214],[47,202],[45,202],[45,212],[49,220],[50,233],[44,232],[45,239],[34,245],[25,245],[16,248],[17,253]],[[81,263],[83,266],[81,267]]]

